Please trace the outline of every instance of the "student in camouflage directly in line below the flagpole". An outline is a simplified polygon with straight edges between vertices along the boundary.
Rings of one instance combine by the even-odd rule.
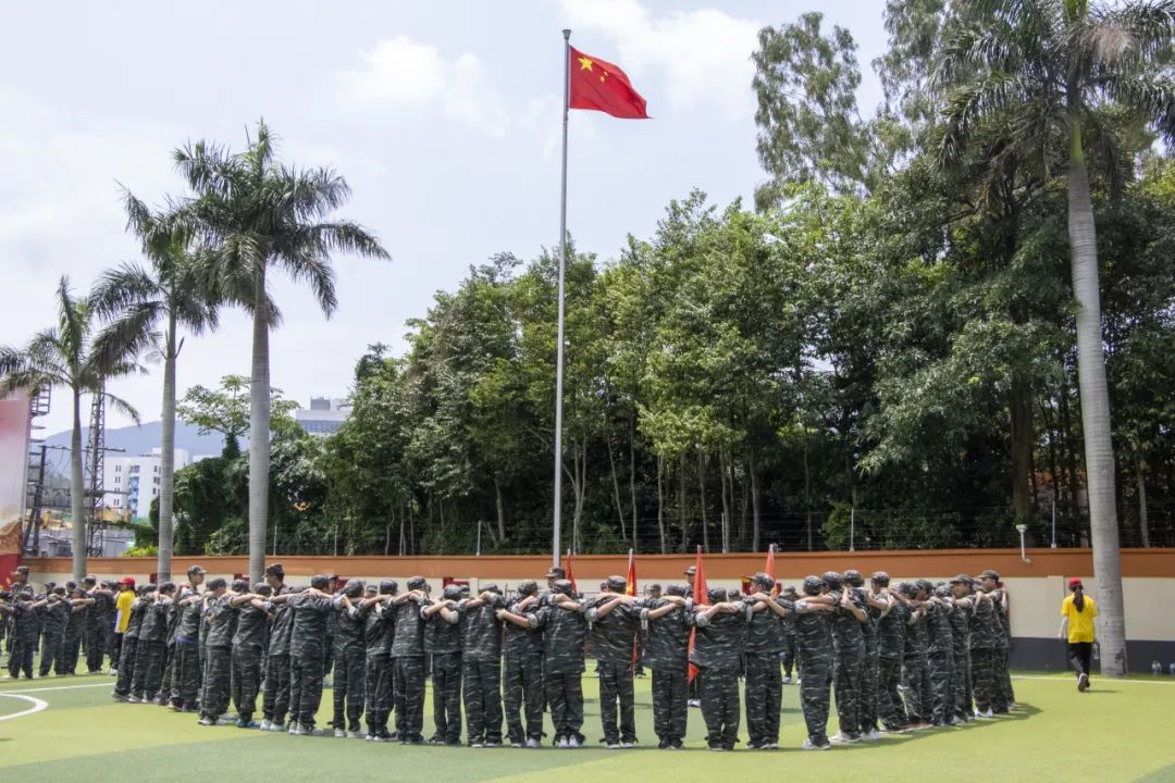
[[[532,628],[543,629],[543,687],[555,725],[558,748],[580,748],[584,735],[584,642],[588,639],[585,606],[572,598],[571,582],[558,579],[546,606],[528,615]]]

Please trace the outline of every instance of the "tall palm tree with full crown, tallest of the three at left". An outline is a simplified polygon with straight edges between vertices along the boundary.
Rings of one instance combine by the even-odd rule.
[[[249,409],[249,576],[262,578],[269,511],[269,330],[281,319],[270,298],[271,271],[309,285],[328,317],[337,306],[333,252],[388,258],[380,242],[350,221],[327,220],[350,196],[331,169],[298,169],[276,157],[264,121],[241,153],[206,142],[175,151],[194,196],[179,217],[208,249],[209,275],[224,302],[253,315]]]

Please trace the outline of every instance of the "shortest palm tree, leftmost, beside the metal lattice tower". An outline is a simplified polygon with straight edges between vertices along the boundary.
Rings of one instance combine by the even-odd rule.
[[[106,391],[110,378],[139,371],[133,351],[95,345],[96,317],[89,297],[74,296],[69,278],[58,284],[58,325],[33,336],[22,349],[0,346],[0,397],[18,389],[36,394],[51,386],[70,391],[73,437],[69,441],[69,511],[73,517],[73,575],[86,575],[86,500],[82,484],[81,398],[102,394],[115,410],[136,424],[139,413],[125,400]]]

